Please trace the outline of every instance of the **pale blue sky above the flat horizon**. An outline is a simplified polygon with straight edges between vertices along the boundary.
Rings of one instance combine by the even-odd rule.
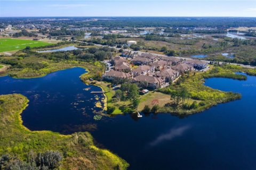
[[[3,1],[0,16],[253,16],[251,1]]]

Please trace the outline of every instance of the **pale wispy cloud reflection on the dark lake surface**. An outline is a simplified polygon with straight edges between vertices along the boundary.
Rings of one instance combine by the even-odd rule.
[[[175,137],[181,136],[188,129],[190,129],[189,125],[171,129],[169,132],[159,135],[159,137],[157,137],[154,141],[150,142],[149,145],[153,147],[158,145],[159,143],[162,143],[163,141],[170,141]]]

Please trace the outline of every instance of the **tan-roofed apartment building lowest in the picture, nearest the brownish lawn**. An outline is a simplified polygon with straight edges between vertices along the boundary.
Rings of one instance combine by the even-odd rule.
[[[133,82],[145,83],[145,88],[158,89],[164,86],[164,78],[152,77],[149,75],[138,75]]]

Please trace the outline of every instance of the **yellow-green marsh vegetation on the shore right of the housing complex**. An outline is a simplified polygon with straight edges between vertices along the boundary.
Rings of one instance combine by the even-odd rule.
[[[217,72],[215,71],[216,69],[218,71],[221,71]],[[202,112],[205,109],[208,109],[220,103],[226,103],[228,101],[241,98],[241,95],[233,92],[224,92],[204,86],[204,78],[213,77],[223,77],[237,80],[246,79],[244,75],[235,74],[233,68],[229,68],[228,66],[221,67],[221,69],[219,66],[212,66],[211,69],[207,72],[197,72],[195,73],[195,75],[191,73],[189,77],[187,76],[185,80],[179,85],[173,84],[173,86],[159,89],[159,91],[163,92],[164,94],[171,95],[172,92],[174,92],[175,90],[179,90],[179,88],[186,88],[188,91],[188,98],[185,100],[186,103],[191,105],[193,101],[196,101],[199,105],[195,108],[187,109],[182,107],[180,101],[178,106],[164,106],[159,109],[159,112],[188,115]]]

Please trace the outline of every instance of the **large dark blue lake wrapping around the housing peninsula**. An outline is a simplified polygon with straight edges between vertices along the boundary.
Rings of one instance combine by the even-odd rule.
[[[98,100],[90,91],[100,89],[79,80],[84,72],[74,68],[36,79],[1,77],[0,94],[29,98],[22,113],[29,129],[90,131],[98,146],[124,158],[129,169],[255,169],[256,77],[207,79],[206,86],[239,92],[242,99],[188,117],[126,114],[95,121],[94,112],[101,109],[95,107]]]

